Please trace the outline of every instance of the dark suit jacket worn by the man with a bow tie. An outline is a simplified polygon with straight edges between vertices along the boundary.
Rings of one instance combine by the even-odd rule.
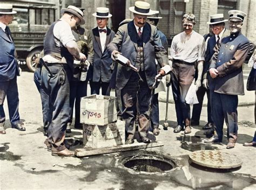
[[[92,81],[99,82],[110,82],[112,70],[111,70],[111,54],[107,52],[106,47],[112,39],[114,38],[114,31],[107,28],[106,33],[106,43],[104,52],[102,53],[102,45],[100,44],[99,38],[99,30],[98,27],[92,29],[92,42],[93,42],[93,49],[94,49],[94,57],[93,57],[93,75]]]

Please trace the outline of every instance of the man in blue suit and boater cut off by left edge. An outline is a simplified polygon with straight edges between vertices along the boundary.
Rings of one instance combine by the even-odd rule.
[[[11,4],[0,4],[0,134],[5,134],[4,99],[7,98],[11,128],[25,131],[19,120],[19,97],[17,76],[19,66],[16,58],[14,41],[8,27],[17,12],[12,10]]]

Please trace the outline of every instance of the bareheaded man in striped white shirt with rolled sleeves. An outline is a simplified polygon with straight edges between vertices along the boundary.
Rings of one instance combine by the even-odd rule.
[[[201,86],[201,76],[203,73],[205,40],[204,37],[193,30],[196,18],[192,13],[185,14],[182,19],[184,32],[174,36],[171,45],[170,57],[172,61],[172,93],[175,102],[177,115],[177,126],[173,132],[191,132],[190,124],[190,104],[186,103],[186,95],[190,88],[194,75],[198,75],[196,80],[197,89]],[[197,73],[195,73],[197,67]]]

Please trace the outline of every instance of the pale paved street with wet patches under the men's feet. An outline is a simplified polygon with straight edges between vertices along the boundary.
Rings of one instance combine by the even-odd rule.
[[[164,146],[85,158],[53,157],[43,144],[41,100],[33,83],[33,73],[23,72],[18,78],[19,112],[26,131],[10,128],[5,122],[6,135],[0,136],[0,189],[256,189],[256,148],[242,144],[252,140],[255,130],[254,105],[238,108],[238,142],[227,150],[223,144],[206,145],[201,141],[206,124],[203,108],[200,126],[190,135],[173,133],[176,125],[174,104],[169,104],[167,131],[161,126],[157,140]],[[161,94],[161,98],[166,94]],[[171,97],[171,96],[170,96]],[[254,92],[246,92],[241,101],[253,102]],[[247,104],[247,103],[246,103]],[[5,113],[8,116],[5,101]],[[160,122],[165,118],[165,103],[160,102]],[[224,126],[224,134],[226,126]],[[72,129],[68,139],[82,140],[82,130]],[[75,146],[71,147],[74,150]],[[236,155],[242,166],[232,171],[206,170],[190,164],[188,154],[194,150],[220,150]],[[168,172],[146,173],[125,168],[122,160],[137,154],[153,154],[172,159],[176,168]]]

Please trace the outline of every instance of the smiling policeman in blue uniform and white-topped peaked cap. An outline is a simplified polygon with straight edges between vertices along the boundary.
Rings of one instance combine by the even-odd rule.
[[[232,149],[238,138],[238,95],[244,95],[242,64],[250,50],[250,41],[241,34],[246,13],[231,10],[228,14],[231,34],[221,40],[220,48],[214,53],[209,69],[213,78],[212,116],[217,133],[208,142],[222,141],[225,118],[227,149]]]

